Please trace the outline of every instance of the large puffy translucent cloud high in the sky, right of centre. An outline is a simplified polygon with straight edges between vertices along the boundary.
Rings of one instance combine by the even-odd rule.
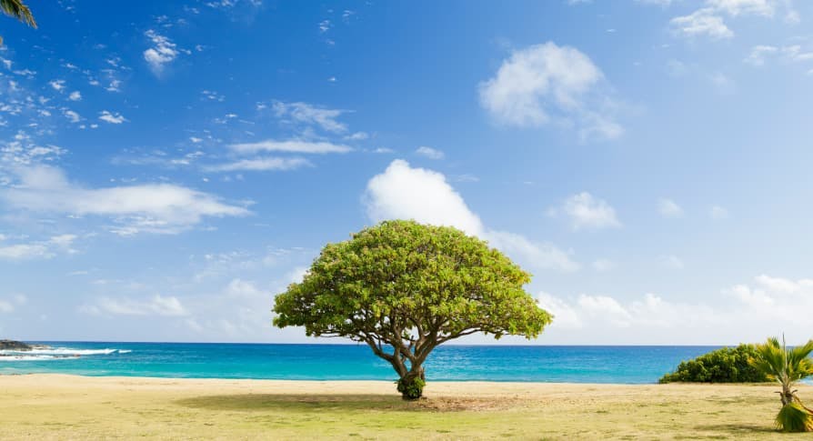
[[[601,92],[604,75],[587,55],[552,42],[515,51],[480,83],[480,104],[504,125],[575,126],[583,139],[616,138],[615,104]]]

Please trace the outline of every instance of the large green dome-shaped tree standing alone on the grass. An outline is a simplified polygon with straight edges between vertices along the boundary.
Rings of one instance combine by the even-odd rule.
[[[535,338],[551,321],[523,286],[530,275],[448,226],[386,221],[328,244],[300,283],[276,296],[274,325],[366,343],[417,399],[437,346],[474,333]]]

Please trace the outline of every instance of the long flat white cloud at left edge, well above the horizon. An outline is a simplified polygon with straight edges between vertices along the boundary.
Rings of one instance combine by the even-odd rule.
[[[111,216],[118,234],[174,234],[199,224],[204,217],[248,215],[246,208],[227,205],[216,196],[170,184],[85,188],[67,181],[49,166],[18,171],[19,183],[0,189],[0,200],[16,208],[70,215]]]

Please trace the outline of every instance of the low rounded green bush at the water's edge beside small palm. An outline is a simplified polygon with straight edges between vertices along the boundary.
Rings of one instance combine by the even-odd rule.
[[[757,356],[753,345],[723,347],[680,362],[677,370],[663,376],[659,383],[763,383],[768,377],[748,363]]]

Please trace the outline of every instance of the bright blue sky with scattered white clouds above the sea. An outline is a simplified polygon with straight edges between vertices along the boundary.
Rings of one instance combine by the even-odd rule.
[[[273,297],[392,218],[533,274],[501,345],[813,336],[811,3],[27,3],[0,337],[321,342]]]

